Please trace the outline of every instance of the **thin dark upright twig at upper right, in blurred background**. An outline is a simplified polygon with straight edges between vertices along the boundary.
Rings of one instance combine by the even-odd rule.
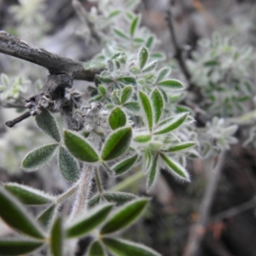
[[[174,46],[174,58],[177,60],[179,67],[181,68],[185,78],[188,81],[189,86],[191,86],[191,73],[189,72],[189,68],[187,67],[186,62],[184,61],[183,58],[183,49],[177,44],[177,37],[176,37],[176,32],[175,32],[175,28],[174,28],[174,22],[173,22],[173,17],[172,17],[172,7],[170,9],[167,10],[167,15],[166,15],[166,21],[167,24],[169,26],[169,30],[171,33],[171,37],[172,37],[172,43]]]

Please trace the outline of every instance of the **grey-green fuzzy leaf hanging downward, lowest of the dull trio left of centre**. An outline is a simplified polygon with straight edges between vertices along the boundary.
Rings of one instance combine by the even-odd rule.
[[[74,182],[79,178],[79,162],[62,146],[59,148],[58,166],[62,176],[68,181]]]

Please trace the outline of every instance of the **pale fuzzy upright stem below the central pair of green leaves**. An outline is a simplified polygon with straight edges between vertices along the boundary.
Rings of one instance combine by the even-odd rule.
[[[92,169],[92,166],[84,165],[84,170],[79,178],[79,189],[73,204],[73,210],[70,214],[69,221],[72,221],[73,218],[86,210],[87,199],[91,188],[91,179],[93,177]]]

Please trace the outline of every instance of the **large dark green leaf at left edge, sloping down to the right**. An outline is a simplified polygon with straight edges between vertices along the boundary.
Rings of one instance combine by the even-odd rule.
[[[0,216],[13,229],[27,236],[43,239],[44,232],[19,201],[0,187]]]

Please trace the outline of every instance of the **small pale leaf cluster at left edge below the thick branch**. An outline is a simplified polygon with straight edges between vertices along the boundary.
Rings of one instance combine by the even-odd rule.
[[[24,80],[22,76],[10,79],[5,73],[0,76],[0,101],[9,103],[23,102],[26,93],[26,85],[30,82]]]

